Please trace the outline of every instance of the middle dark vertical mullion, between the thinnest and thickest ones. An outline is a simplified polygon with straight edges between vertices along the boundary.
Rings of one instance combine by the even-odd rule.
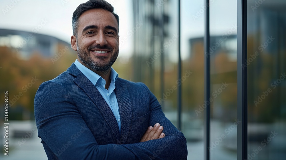
[[[210,16],[209,16],[209,0],[205,0],[205,34],[204,34],[204,100],[207,102],[210,98]],[[210,103],[206,104],[204,111],[204,152],[205,160],[210,159]]]

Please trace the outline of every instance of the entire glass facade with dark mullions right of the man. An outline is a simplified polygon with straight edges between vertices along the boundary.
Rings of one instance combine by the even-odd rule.
[[[148,85],[184,133],[188,159],[285,157],[285,6],[279,0],[133,1],[134,26],[144,21],[135,33],[133,80]]]

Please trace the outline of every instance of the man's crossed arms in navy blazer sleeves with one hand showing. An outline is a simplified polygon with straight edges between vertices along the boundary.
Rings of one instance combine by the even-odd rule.
[[[94,137],[94,128],[87,125],[90,122],[83,118],[77,103],[72,98],[62,98],[67,93],[66,87],[53,81],[44,82],[35,96],[35,119],[48,159],[186,159],[184,135],[164,116],[159,102],[146,85],[141,85],[150,100],[148,126],[154,127],[145,128],[146,132],[140,133],[144,134],[139,137],[141,140],[135,143],[100,145]],[[83,98],[82,101],[90,100]],[[96,120],[94,125],[103,123]],[[163,128],[156,123],[164,126],[164,134],[161,134]],[[104,133],[102,137],[105,137]],[[132,133],[128,137],[131,139]]]

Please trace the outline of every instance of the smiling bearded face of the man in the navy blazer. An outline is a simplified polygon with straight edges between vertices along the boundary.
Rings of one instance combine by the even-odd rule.
[[[104,9],[88,10],[79,17],[77,31],[78,37],[72,37],[72,47],[78,53],[78,61],[90,69],[108,71],[119,52],[114,15]]]

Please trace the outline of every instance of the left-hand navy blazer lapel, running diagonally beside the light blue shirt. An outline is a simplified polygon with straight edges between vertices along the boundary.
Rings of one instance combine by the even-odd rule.
[[[94,102],[100,113],[104,117],[106,123],[109,125],[116,140],[120,139],[120,133],[116,118],[110,107],[99,93],[98,89],[90,82],[90,80],[74,65],[67,70],[67,72],[77,76],[74,82],[88,95],[88,97]],[[121,115],[121,114],[120,114]],[[96,116],[96,115],[94,115]]]

